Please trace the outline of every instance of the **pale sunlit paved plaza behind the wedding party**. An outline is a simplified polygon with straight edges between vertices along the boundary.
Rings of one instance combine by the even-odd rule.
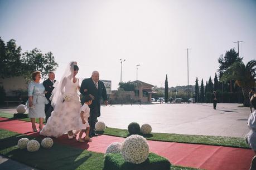
[[[244,137],[248,133],[248,107],[241,104],[138,104],[102,106],[99,121],[108,127],[127,129],[131,122],[151,124],[152,132]],[[16,113],[16,109],[0,109]]]

